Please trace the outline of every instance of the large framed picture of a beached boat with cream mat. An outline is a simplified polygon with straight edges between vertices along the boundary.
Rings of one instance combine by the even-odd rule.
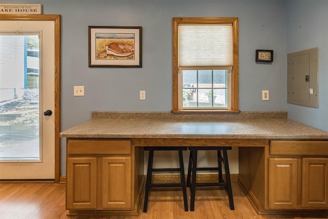
[[[141,27],[89,26],[89,67],[141,68]]]

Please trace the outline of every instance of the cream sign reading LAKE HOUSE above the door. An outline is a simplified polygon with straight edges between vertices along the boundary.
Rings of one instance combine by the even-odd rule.
[[[38,4],[0,4],[0,14],[42,14],[42,7]]]

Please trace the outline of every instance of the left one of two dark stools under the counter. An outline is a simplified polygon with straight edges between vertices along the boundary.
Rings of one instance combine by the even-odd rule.
[[[182,151],[187,150],[187,147],[145,147],[145,150],[149,151],[149,157],[148,157],[148,168],[147,168],[147,178],[146,178],[144,212],[147,212],[149,190],[151,188],[166,188],[166,187],[182,188],[185,211],[188,211],[185,169],[183,167],[183,157],[182,157]],[[154,151],[178,151],[179,168],[153,168]],[[153,172],[166,172],[166,171],[179,172],[180,183],[158,183],[158,184],[152,183]]]

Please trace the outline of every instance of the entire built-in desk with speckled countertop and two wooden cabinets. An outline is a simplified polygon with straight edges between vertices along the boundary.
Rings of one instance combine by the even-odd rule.
[[[94,111],[60,137],[67,138],[72,215],[138,214],[144,146],[238,147],[238,184],[258,213],[328,208],[328,132],[288,120],[286,112]]]

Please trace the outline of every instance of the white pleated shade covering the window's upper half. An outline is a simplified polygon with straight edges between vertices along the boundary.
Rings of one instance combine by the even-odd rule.
[[[231,25],[179,26],[179,67],[232,67]]]

